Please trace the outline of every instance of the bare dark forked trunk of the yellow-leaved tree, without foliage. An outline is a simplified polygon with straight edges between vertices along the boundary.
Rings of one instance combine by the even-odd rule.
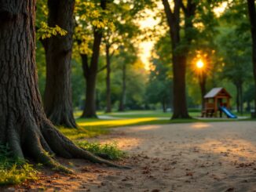
[[[106,9],[107,1],[101,0],[101,9]],[[98,72],[98,60],[100,56],[100,47],[102,40],[102,31],[94,29],[93,32],[93,56],[90,60],[90,66],[88,65],[88,60],[82,63],[82,69],[86,78],[86,102],[85,107],[82,112],[81,118],[97,118],[96,114],[96,81]],[[85,56],[81,54],[82,60]],[[87,56],[86,56],[87,59]],[[86,66],[84,66],[86,65]]]

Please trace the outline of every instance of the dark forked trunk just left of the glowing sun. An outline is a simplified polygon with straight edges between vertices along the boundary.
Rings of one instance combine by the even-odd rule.
[[[167,24],[170,27],[170,38],[172,42],[172,61],[174,74],[174,114],[175,118],[190,118],[188,115],[186,92],[185,92],[185,73],[186,73],[186,53],[179,53],[177,47],[180,39],[180,9],[181,0],[174,1],[174,12],[170,9],[168,0],[162,0],[166,13]]]

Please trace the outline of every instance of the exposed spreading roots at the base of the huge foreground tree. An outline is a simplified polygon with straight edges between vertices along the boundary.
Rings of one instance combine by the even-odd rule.
[[[35,161],[66,173],[72,173],[72,171],[60,165],[54,158],[54,154],[62,158],[82,158],[93,163],[104,164],[115,168],[130,168],[123,165],[116,165],[111,161],[97,157],[76,146],[75,143],[60,133],[46,118],[40,124],[40,127],[35,121],[25,124],[26,136],[22,145],[20,145],[22,142],[20,142],[20,136],[15,132],[15,129],[10,129],[9,146],[16,158],[24,159],[25,152],[25,154],[29,154]]]

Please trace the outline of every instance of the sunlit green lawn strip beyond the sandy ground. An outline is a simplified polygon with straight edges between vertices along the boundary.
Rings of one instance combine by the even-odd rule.
[[[192,119],[170,120],[171,113],[163,113],[160,110],[130,110],[126,112],[112,112],[104,114],[99,111],[99,118],[85,119],[79,118],[82,111],[75,111],[76,121],[79,129],[60,128],[60,131],[68,138],[76,140],[93,136],[99,136],[109,132],[110,128],[135,126],[135,125],[164,125],[171,123],[190,123],[190,122],[212,122],[212,121],[240,121],[234,119],[196,119],[200,116],[200,112],[189,112]]]

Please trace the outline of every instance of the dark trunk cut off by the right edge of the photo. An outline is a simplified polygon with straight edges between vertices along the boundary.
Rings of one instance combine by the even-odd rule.
[[[248,13],[251,22],[251,38],[252,38],[252,63],[254,70],[254,87],[256,90],[256,10],[255,1],[247,0]],[[254,110],[256,110],[256,93],[254,94]],[[256,117],[256,116],[255,116]]]

